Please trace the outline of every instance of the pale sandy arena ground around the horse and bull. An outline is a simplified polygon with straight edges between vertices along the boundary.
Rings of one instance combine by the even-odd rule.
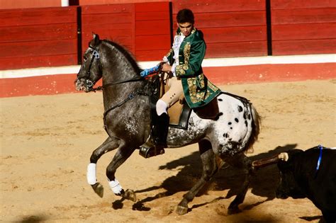
[[[249,98],[262,116],[253,159],[294,147],[336,147],[336,80],[225,85]],[[242,212],[227,214],[242,183],[240,171],[222,168],[190,204],[184,216],[175,208],[201,175],[198,147],[167,149],[143,159],[138,151],[118,169],[123,188],[138,203],[108,189],[105,168],[116,151],[97,165],[105,188],[99,198],[86,183],[91,152],[104,139],[101,93],[0,98],[1,222],[319,222],[320,210],[308,199],[274,197],[276,166],[257,172]],[[269,153],[269,154],[267,154]],[[142,205],[141,205],[142,204]]]

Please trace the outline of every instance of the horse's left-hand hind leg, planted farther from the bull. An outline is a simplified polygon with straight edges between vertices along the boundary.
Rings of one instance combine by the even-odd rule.
[[[177,205],[177,214],[184,215],[188,212],[188,203],[194,200],[196,194],[203,186],[210,181],[211,177],[218,171],[215,154],[211,148],[211,143],[203,140],[198,143],[203,164],[203,173],[201,179],[183,196],[179,205]]]

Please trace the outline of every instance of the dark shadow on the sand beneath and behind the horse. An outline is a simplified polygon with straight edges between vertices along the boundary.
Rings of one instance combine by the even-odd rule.
[[[296,144],[287,144],[284,147],[276,147],[274,149],[270,149],[266,153],[257,154],[255,156],[250,156],[252,161],[257,159],[264,159],[274,154],[279,154],[283,151],[289,151],[291,149],[296,148]],[[199,152],[195,151],[194,153],[190,154],[189,156],[184,156],[181,159],[177,159],[175,161],[171,161],[164,166],[159,166],[159,169],[176,169],[181,168],[179,173],[176,176],[172,176],[164,180],[162,185],[145,188],[142,190],[137,190],[135,193],[144,193],[152,190],[157,190],[159,188],[164,188],[166,191],[162,193],[157,193],[152,197],[147,197],[143,200],[136,202],[133,205],[133,210],[141,210],[147,211],[150,210],[149,207],[145,207],[145,202],[150,202],[152,200],[156,200],[157,198],[163,198],[170,195],[174,195],[175,193],[179,193],[181,191],[188,191],[191,187],[201,178],[202,173],[202,164],[201,159],[199,156]],[[218,173],[215,174],[213,179],[206,184],[206,186],[198,193],[198,195],[202,195],[206,193],[208,190],[228,190],[228,194],[225,198],[220,197],[216,198],[211,202],[217,202],[218,200],[231,198],[237,195],[237,190],[240,188],[240,185],[244,181],[244,176],[242,171],[233,168],[228,165],[224,165]],[[277,170],[276,165],[267,166],[264,168],[259,169],[256,171],[255,176],[252,176],[250,188],[251,192],[254,195],[266,198],[262,202],[257,202],[253,205],[247,205],[243,208],[243,210],[250,210],[253,207],[262,204],[263,202],[267,202],[269,200],[273,200],[275,198],[275,190],[276,186],[279,183],[279,173]],[[115,209],[122,208],[123,200],[116,200],[113,202],[112,207]],[[203,204],[194,205],[193,207],[189,208],[194,209],[197,207],[201,207],[203,205],[207,205],[206,202]]]

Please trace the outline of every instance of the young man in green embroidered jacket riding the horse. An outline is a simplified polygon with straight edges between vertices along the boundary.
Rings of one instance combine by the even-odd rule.
[[[155,146],[147,144],[140,149],[140,154],[145,157],[164,153],[169,126],[167,108],[177,102],[182,93],[190,108],[206,105],[220,93],[220,89],[203,74],[201,64],[206,54],[206,42],[203,33],[194,28],[194,13],[188,8],[181,9],[177,13],[177,25],[172,48],[162,61],[162,71],[172,72],[173,76],[169,79],[169,91],[156,103],[157,119],[152,129]],[[145,77],[157,69],[158,65],[145,69],[140,75]]]

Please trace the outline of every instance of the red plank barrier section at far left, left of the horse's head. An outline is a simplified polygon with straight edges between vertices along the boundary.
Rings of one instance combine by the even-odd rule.
[[[0,11],[0,69],[77,64],[77,7]]]

